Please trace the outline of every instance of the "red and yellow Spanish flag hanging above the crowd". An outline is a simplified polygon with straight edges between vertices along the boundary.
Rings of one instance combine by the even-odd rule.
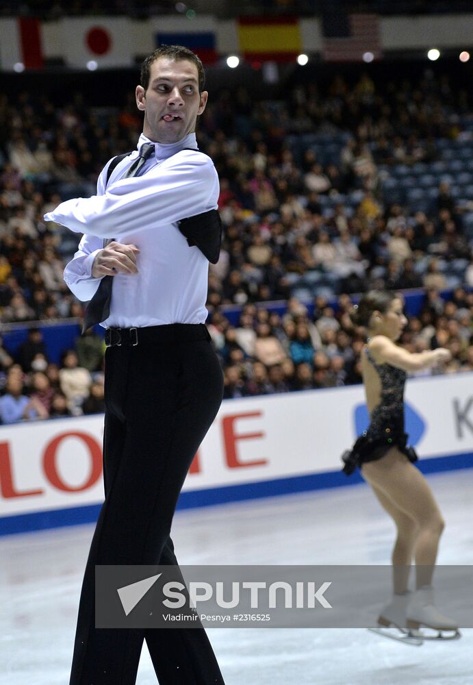
[[[301,53],[301,29],[295,16],[240,16],[238,38],[249,62],[292,62]]]

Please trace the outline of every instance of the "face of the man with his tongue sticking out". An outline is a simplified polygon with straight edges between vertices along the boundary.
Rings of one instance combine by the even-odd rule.
[[[150,71],[146,91],[136,88],[136,104],[144,112],[143,133],[153,142],[177,142],[195,131],[208,93],[199,93],[197,67],[189,60],[160,57]]]

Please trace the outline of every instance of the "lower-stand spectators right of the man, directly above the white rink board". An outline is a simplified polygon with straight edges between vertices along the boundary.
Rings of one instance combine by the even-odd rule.
[[[348,295],[336,306],[317,297],[310,308],[291,298],[282,315],[246,304],[238,327],[214,312],[209,332],[225,369],[224,397],[361,383],[366,330],[351,322],[352,308]],[[428,290],[418,314],[408,316],[400,344],[412,352],[447,347],[452,360],[434,373],[473,371],[472,312],[473,293],[457,288],[446,301],[437,290]]]

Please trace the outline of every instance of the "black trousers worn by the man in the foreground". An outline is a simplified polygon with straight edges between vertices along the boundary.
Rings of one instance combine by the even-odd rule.
[[[222,685],[203,627],[95,628],[96,564],[176,564],[172,516],[222,401],[203,325],[138,329],[105,355],[105,502],[86,566],[70,685],[133,685],[143,640],[160,685]],[[127,333],[127,332],[125,332]],[[195,624],[194,624],[195,625]]]

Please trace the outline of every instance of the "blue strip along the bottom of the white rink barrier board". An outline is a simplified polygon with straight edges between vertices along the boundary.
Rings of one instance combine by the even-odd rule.
[[[473,453],[467,452],[444,457],[423,458],[417,462],[416,466],[425,475],[473,469]],[[279,495],[294,495],[313,490],[327,490],[364,483],[359,471],[355,471],[355,473],[348,477],[342,471],[327,471],[326,473],[309,473],[303,476],[278,478],[222,488],[188,490],[181,493],[177,503],[177,510],[218,506],[219,504],[231,502],[266,499],[267,497],[277,497]],[[100,510],[101,504],[92,504],[90,506],[0,517],[0,536],[95,523]]]

